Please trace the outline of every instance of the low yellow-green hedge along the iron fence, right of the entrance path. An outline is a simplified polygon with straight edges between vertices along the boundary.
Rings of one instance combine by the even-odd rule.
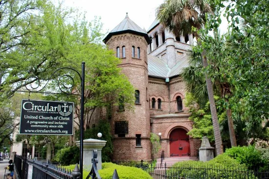
[[[174,173],[175,169],[168,170],[167,175],[192,179],[205,177],[210,179],[238,179],[243,177],[240,172],[232,173],[227,170],[245,171],[247,169],[246,166],[241,165],[236,159],[224,154],[207,162],[192,160],[177,162],[173,167],[179,167],[179,169],[176,170],[176,173]],[[254,176],[251,177],[255,179]]]

